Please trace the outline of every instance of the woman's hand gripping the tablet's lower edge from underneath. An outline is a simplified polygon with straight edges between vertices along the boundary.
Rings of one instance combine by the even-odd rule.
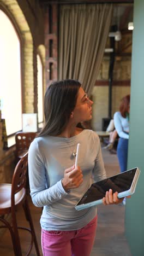
[[[123,198],[118,198],[117,197],[118,193],[115,192],[112,194],[112,189],[109,191],[106,191],[105,197],[103,197],[103,204],[104,205],[118,205],[118,203],[121,203],[124,199]],[[130,197],[130,196],[128,196]]]

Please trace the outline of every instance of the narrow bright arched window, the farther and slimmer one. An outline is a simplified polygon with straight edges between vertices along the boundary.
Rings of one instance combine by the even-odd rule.
[[[38,69],[38,123],[43,123],[43,65],[37,54]]]

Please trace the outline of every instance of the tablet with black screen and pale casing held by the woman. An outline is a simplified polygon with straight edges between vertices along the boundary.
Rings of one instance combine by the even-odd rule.
[[[140,170],[135,167],[125,172],[118,173],[115,176],[95,182],[77,202],[76,210],[82,210],[94,205],[102,203],[106,191],[112,189],[112,192],[118,192],[118,198],[131,195],[135,191],[137,179],[139,178]]]

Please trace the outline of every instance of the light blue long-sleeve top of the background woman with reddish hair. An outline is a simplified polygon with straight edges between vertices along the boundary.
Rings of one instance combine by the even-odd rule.
[[[114,125],[118,136],[121,138],[129,139],[129,121],[123,118],[121,112],[116,112],[113,116]]]

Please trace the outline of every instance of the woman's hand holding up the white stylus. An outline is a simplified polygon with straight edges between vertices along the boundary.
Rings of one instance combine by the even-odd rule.
[[[75,165],[64,171],[64,178],[62,179],[62,185],[67,192],[69,189],[78,188],[83,182],[83,174],[79,166]]]

